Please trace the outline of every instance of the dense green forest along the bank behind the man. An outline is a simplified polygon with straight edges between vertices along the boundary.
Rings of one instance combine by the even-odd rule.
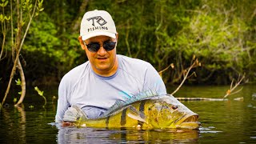
[[[4,6],[5,2],[0,14],[10,16],[10,2]],[[166,83],[180,83],[194,55],[201,66],[192,70],[196,76],[186,84],[230,84],[239,74],[246,74],[247,82],[256,82],[254,0],[45,0],[42,7],[19,54],[29,86],[58,84],[66,72],[87,61],[78,35],[88,10],[107,10],[112,15],[119,34],[118,54],[143,59],[158,71],[173,63],[174,68],[162,74]],[[8,17],[0,17],[0,22],[0,82],[4,84],[14,58],[11,23]]]

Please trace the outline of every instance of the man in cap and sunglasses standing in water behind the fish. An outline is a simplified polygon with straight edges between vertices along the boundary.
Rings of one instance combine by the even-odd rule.
[[[117,100],[149,91],[166,94],[162,78],[150,63],[116,54],[118,33],[108,12],[84,14],[78,40],[89,61],[62,78],[56,122],[62,122],[72,105],[80,106],[88,118],[97,118]]]

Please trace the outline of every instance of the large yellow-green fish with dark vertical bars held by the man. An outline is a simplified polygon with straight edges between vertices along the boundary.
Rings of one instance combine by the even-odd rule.
[[[170,94],[116,102],[102,116],[86,118],[78,106],[66,110],[64,122],[98,128],[198,129],[198,114]]]

